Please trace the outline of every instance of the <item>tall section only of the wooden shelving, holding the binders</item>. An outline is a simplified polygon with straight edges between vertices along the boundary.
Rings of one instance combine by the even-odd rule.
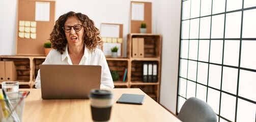
[[[132,38],[144,38],[144,57],[132,57]],[[140,88],[159,102],[162,40],[156,34],[129,34],[127,37],[128,83],[130,88]],[[143,82],[143,63],[157,64],[157,82]]]

